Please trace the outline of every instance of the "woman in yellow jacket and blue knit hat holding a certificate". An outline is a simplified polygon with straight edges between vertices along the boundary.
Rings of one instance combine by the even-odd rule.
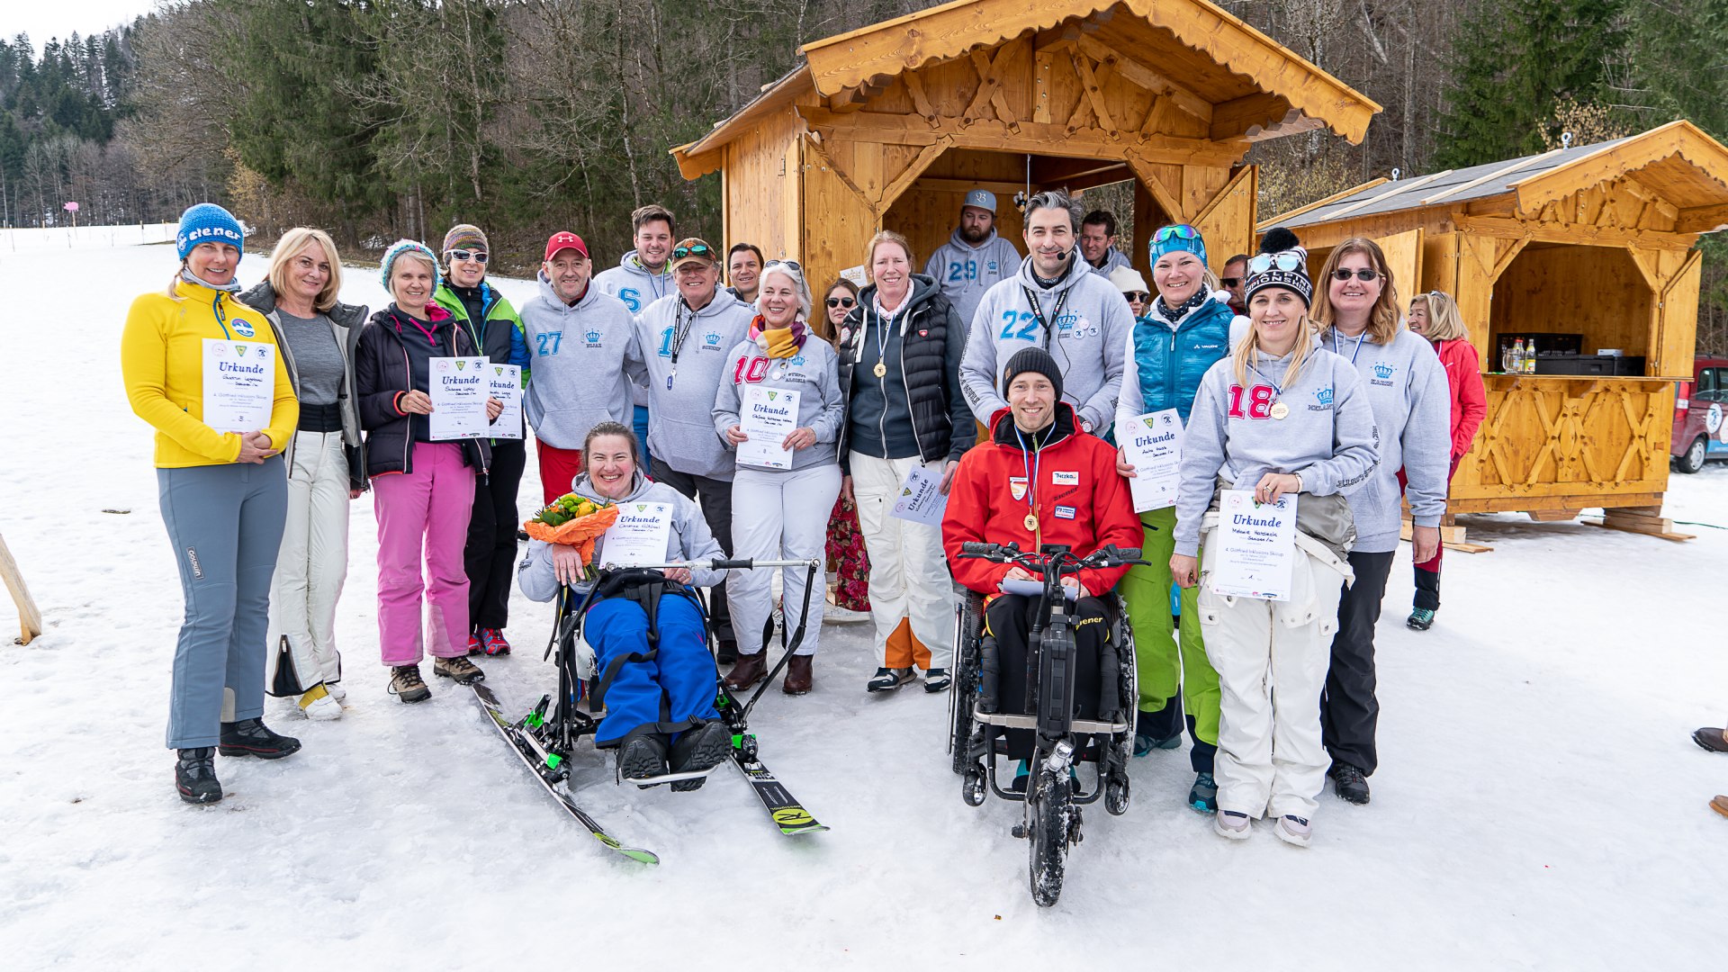
[[[126,398],[156,427],[162,522],[187,600],[168,716],[187,803],[221,799],[214,749],[276,759],[301,747],[263,723],[270,579],[289,495],[278,453],[299,403],[270,322],[235,299],[244,242],[221,206],[187,209],[178,277],[133,301],[121,334]],[[216,387],[207,375],[221,375]]]

